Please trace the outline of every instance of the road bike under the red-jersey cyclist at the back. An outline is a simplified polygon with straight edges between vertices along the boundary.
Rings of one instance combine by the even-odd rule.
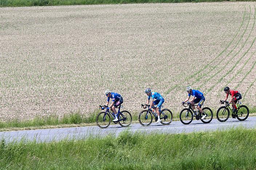
[[[220,122],[226,122],[229,118],[230,112],[232,113],[232,118],[237,118],[240,121],[244,121],[249,116],[249,109],[245,105],[241,105],[242,103],[239,100],[236,102],[237,110],[233,112],[228,101],[220,101],[220,104],[225,104],[225,106],[221,106],[216,113],[217,119]]]

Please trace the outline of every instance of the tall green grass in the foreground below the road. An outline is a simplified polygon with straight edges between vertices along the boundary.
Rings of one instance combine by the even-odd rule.
[[[255,169],[256,129],[0,144],[2,169]]]

